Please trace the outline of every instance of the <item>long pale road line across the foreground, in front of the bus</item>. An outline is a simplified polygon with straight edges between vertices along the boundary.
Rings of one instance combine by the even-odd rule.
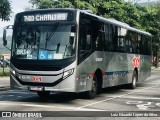
[[[0,105],[14,105],[14,106],[25,106],[25,107],[40,107],[40,108],[52,108],[57,111],[57,109],[67,109],[67,110],[79,110],[79,111],[107,111],[101,109],[89,109],[89,108],[76,108],[76,107],[60,107],[60,106],[53,106],[53,105],[38,105],[38,104],[31,104],[31,103],[24,103],[24,102],[10,102],[10,101],[0,101]]]

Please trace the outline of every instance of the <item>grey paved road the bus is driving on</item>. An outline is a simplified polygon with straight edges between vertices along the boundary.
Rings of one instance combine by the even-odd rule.
[[[106,114],[112,111],[112,116],[116,116],[114,114],[116,111],[122,113],[139,111],[140,113],[148,112],[147,114],[150,116],[143,119],[150,120],[155,117],[155,120],[160,120],[160,117],[156,117],[155,112],[160,111],[160,72],[152,72],[152,76],[143,84],[138,84],[134,90],[127,89],[126,86],[108,88],[93,100],[85,99],[83,94],[52,93],[50,98],[44,101],[39,99],[34,92],[3,89],[3,91],[0,91],[0,111],[55,111],[54,113],[48,113],[48,115],[70,116],[74,114],[75,116],[80,116],[79,114],[83,114],[85,116],[89,114],[94,119],[104,111]],[[58,111],[72,112],[64,113]],[[111,115],[111,113],[109,114]],[[114,119],[128,120],[137,119],[137,117],[115,117]]]

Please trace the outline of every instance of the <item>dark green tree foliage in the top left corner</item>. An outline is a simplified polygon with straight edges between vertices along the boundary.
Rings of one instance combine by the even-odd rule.
[[[11,13],[11,5],[9,0],[0,0],[0,19],[9,20]]]

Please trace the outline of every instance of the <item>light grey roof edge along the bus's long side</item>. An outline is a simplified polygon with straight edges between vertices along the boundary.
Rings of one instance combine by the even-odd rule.
[[[141,33],[141,34],[152,36],[149,32],[141,31],[139,29],[131,27],[127,23],[123,23],[121,21],[118,21],[118,20],[115,20],[115,19],[112,19],[112,18],[104,18],[104,17],[101,17],[101,16],[97,16],[97,15],[92,14],[90,12],[87,12],[85,10],[80,10],[80,12],[88,14],[88,15],[91,15],[91,16],[94,16],[94,17],[98,18],[99,20],[102,20],[102,21],[105,21],[105,22],[108,22],[108,23],[111,23],[111,24],[126,28],[126,29],[131,30],[131,31],[135,31],[135,32],[138,32],[138,33]]]

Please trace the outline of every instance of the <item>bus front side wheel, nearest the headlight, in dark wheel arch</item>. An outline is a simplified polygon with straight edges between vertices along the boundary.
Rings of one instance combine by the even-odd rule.
[[[97,95],[97,90],[98,90],[98,86],[97,86],[97,76],[94,75],[94,78],[92,80],[92,89],[90,91],[86,92],[86,96],[88,99],[94,99]]]

